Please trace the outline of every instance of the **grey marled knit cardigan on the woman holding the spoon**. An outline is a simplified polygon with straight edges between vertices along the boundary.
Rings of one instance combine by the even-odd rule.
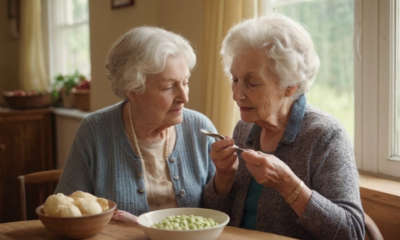
[[[254,128],[240,120],[235,127],[235,144],[260,150],[258,136],[246,142]],[[332,116],[307,104],[296,138],[281,142],[275,155],[312,189],[312,196],[302,217],[278,191],[264,187],[258,201],[258,231],[298,239],[364,239],[364,215],[360,200],[358,171],[348,134]],[[230,215],[230,226],[239,227],[252,176],[239,156],[239,168],[233,189],[219,197],[212,179],[204,189],[207,208]]]

